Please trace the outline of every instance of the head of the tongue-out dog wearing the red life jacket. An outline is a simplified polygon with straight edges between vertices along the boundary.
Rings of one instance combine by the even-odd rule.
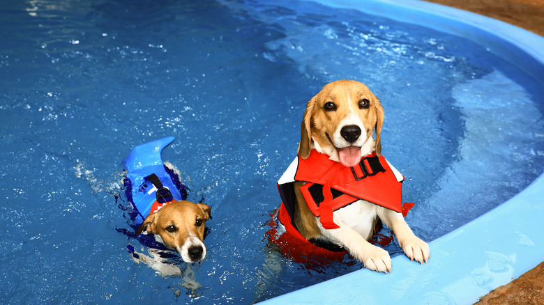
[[[356,166],[372,150],[380,155],[383,122],[384,109],[367,86],[358,81],[333,81],[308,102],[299,154],[306,159],[315,148],[344,166]]]

